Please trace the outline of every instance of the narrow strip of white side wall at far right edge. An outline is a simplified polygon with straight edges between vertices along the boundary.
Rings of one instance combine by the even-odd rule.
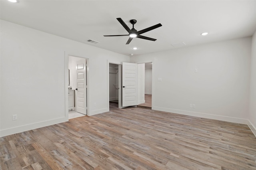
[[[250,128],[256,136],[256,32],[252,37],[252,58],[251,58],[251,77],[250,77],[250,105],[249,121]]]

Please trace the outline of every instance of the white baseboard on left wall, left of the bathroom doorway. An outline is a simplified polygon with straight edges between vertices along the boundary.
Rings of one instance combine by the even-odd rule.
[[[66,121],[68,121],[68,118],[62,117],[62,118],[58,118],[58,119],[52,119],[52,120],[32,123],[32,124],[28,124],[28,125],[22,125],[22,126],[19,126],[19,127],[1,129],[0,130],[0,137],[7,136],[7,135],[10,135],[10,134],[20,133],[20,132],[24,132],[24,131],[28,131],[28,130],[33,130],[33,129],[36,129],[36,128],[55,125],[55,124],[63,123],[63,122],[66,122]]]

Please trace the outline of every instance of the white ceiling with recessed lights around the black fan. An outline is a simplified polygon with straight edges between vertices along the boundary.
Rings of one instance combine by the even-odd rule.
[[[1,19],[124,55],[140,55],[186,46],[252,36],[256,30],[256,0],[0,0]],[[136,30],[162,27],[134,38],[116,20]],[[202,32],[209,32],[201,36]],[[100,43],[86,42],[91,39]],[[138,47],[133,50],[132,47]]]

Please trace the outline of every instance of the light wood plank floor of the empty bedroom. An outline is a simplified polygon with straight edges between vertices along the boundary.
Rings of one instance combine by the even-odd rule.
[[[247,125],[116,105],[0,138],[0,169],[256,169],[256,138]]]

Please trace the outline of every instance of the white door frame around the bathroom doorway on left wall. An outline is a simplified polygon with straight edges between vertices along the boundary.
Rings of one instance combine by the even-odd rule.
[[[89,109],[89,88],[90,88],[90,83],[89,83],[89,58],[86,57],[80,57],[80,56],[76,56],[76,55],[71,55],[71,54],[67,54],[66,52],[64,52],[64,56],[65,56],[65,61],[64,61],[64,72],[65,72],[65,118],[66,121],[68,121],[68,63],[69,63],[69,56],[71,57],[79,57],[82,59],[86,59],[86,63],[87,63],[87,67],[86,67],[86,81],[87,81],[87,89],[86,89],[86,105],[87,105],[87,114],[88,116],[90,116],[90,109]]]

